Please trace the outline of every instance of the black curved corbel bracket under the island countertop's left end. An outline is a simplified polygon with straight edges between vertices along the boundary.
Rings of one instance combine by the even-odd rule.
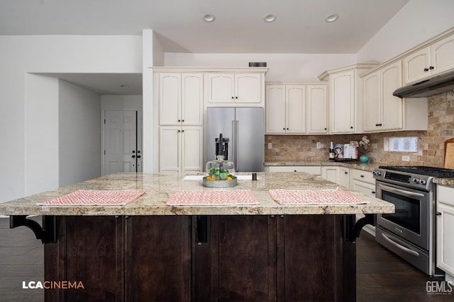
[[[40,239],[42,243],[57,242],[57,224],[56,216],[43,216],[43,227],[40,223],[27,219],[26,215],[9,216],[9,228],[17,228],[18,226],[26,226],[35,233],[36,239]]]

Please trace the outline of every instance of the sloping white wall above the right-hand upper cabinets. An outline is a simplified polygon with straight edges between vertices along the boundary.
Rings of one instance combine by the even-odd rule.
[[[454,27],[453,0],[410,0],[358,52],[358,62],[385,62]]]

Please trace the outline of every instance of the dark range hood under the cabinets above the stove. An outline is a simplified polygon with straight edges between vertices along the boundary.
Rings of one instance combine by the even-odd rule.
[[[397,89],[392,95],[399,98],[426,98],[431,95],[454,90],[454,71]]]

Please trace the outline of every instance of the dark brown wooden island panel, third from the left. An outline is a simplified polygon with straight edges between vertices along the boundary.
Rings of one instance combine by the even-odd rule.
[[[208,219],[208,240],[199,243],[194,238],[194,301],[279,301],[276,218],[250,215]]]

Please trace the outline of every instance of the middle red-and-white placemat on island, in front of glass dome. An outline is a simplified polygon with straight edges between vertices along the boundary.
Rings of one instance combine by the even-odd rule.
[[[250,190],[238,191],[177,191],[167,201],[170,206],[212,206],[258,204]]]

